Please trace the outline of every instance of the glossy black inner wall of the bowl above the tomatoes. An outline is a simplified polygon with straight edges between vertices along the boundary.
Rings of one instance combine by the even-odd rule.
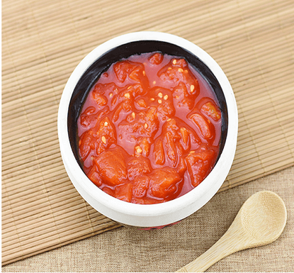
[[[82,166],[79,160],[79,151],[77,148],[77,120],[79,118],[79,114],[86,96],[91,90],[91,87],[93,87],[100,75],[103,72],[106,72],[108,67],[110,67],[114,62],[118,62],[123,58],[128,58],[131,55],[140,55],[141,53],[155,51],[185,58],[187,62],[208,82],[208,84],[210,84],[210,87],[212,87],[213,91],[215,92],[215,96],[217,97],[220,105],[220,110],[222,111],[222,133],[220,140],[220,152],[217,160],[219,159],[225,145],[225,140],[227,138],[228,115],[225,96],[215,75],[198,57],[193,55],[193,53],[189,52],[188,50],[179,47],[178,45],[173,45],[171,43],[157,40],[140,40],[120,45],[101,55],[101,57],[99,57],[98,60],[96,60],[86,70],[86,72],[84,72],[84,74],[79,79],[77,86],[74,88],[72,98],[69,102],[67,128],[72,152],[74,153],[74,157],[76,158],[81,168]],[[216,163],[217,161],[215,164]]]

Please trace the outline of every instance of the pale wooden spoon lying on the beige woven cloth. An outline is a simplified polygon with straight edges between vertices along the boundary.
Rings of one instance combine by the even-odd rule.
[[[272,191],[259,191],[247,199],[215,245],[177,272],[204,272],[234,252],[272,243],[283,232],[286,220],[287,211],[281,197]]]

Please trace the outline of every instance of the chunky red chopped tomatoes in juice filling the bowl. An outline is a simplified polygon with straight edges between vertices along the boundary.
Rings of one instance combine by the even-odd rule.
[[[84,172],[123,201],[175,199],[213,169],[221,116],[210,85],[186,60],[133,55],[101,74],[81,109]]]

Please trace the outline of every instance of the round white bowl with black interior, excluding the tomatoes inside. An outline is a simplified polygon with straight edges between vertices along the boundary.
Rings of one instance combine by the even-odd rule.
[[[141,51],[142,50],[142,51]],[[170,55],[185,55],[215,89],[220,107],[225,113],[225,126],[222,132],[222,152],[202,183],[187,194],[162,204],[131,204],[115,199],[95,186],[84,174],[77,161],[73,135],[77,114],[84,93],[95,82],[101,69],[109,62],[118,61],[139,52],[162,51]],[[219,65],[208,53],[197,45],[178,36],[157,33],[138,32],[121,35],[99,45],[81,60],[64,87],[58,112],[58,137],[64,167],[69,179],[79,194],[104,216],[137,227],[158,227],[180,221],[205,205],[220,189],[225,181],[237,145],[238,116],[237,104],[230,82]]]

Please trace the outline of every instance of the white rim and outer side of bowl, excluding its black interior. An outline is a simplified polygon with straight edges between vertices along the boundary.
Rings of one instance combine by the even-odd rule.
[[[119,45],[126,43],[139,41],[139,40],[157,40],[166,43],[171,43],[180,46],[196,55],[208,68],[213,72],[217,81],[222,88],[222,92],[225,96],[225,101],[227,103],[227,115],[228,115],[228,126],[227,126],[227,138],[225,140],[225,145],[223,147],[222,153],[213,168],[213,170],[208,174],[203,182],[201,182],[195,189],[192,189],[188,193],[180,196],[174,200],[167,201],[160,204],[132,204],[120,199],[116,199],[113,196],[106,194],[104,191],[99,189],[91,180],[86,177],[84,171],[79,167],[79,164],[74,157],[72,152],[72,147],[69,143],[68,128],[67,128],[67,115],[69,102],[72,98],[72,92],[77,85],[80,77],[101,55],[112,48],[116,48]],[[67,84],[64,87],[62,97],[60,99],[60,107],[58,110],[57,117],[57,130],[58,138],[60,140],[60,152],[62,155],[62,161],[64,162],[64,167],[67,170],[67,174],[72,181],[72,184],[76,187],[79,194],[97,211],[103,213],[105,216],[112,218],[115,221],[120,221],[124,223],[124,219],[120,216],[116,217],[117,213],[122,213],[124,216],[133,217],[157,217],[164,216],[166,214],[171,215],[176,211],[183,211],[186,207],[193,206],[192,211],[197,211],[200,207],[204,206],[220,189],[222,183],[225,181],[227,174],[230,171],[232,162],[234,160],[234,153],[237,146],[237,130],[238,130],[238,114],[237,114],[237,104],[234,98],[234,93],[230,85],[229,80],[225,76],[217,62],[213,60],[207,52],[202,50],[191,43],[190,41],[181,38],[176,35],[162,32],[154,31],[141,31],[135,33],[127,33],[120,35],[118,37],[112,38],[111,40],[98,45],[94,50],[89,52],[86,57],[77,65],[72,74],[70,75]],[[218,177],[215,181],[215,177]],[[203,198],[205,196],[205,198]],[[99,206],[101,205],[101,206]],[[112,211],[112,212],[111,212]],[[191,210],[190,210],[191,211]],[[190,212],[191,214],[191,212]],[[190,215],[188,214],[188,215]],[[186,216],[183,213],[183,217]],[[179,221],[182,218],[177,217]],[[174,220],[173,220],[174,221]],[[128,221],[127,221],[128,222]],[[130,221],[131,224],[137,225],[137,221]],[[147,221],[148,222],[148,221]],[[152,222],[152,221],[151,221]],[[162,221],[157,221],[157,223],[164,223],[166,219],[162,218]],[[173,222],[171,222],[173,223]],[[152,226],[145,223],[145,226]]]

